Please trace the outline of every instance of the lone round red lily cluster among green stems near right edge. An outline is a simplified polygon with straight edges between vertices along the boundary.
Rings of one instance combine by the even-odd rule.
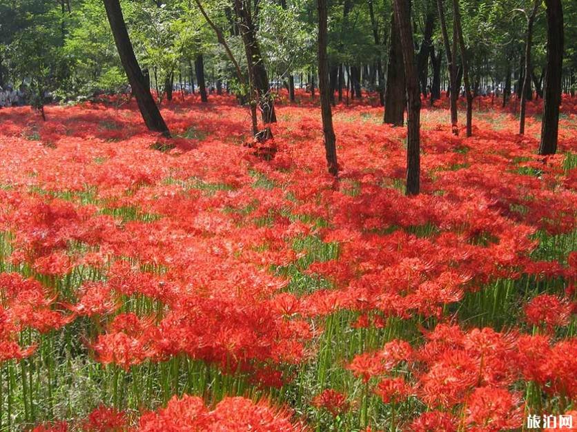
[[[525,306],[525,315],[529,324],[545,325],[547,331],[552,331],[554,327],[563,327],[569,324],[572,310],[573,305],[566,299],[551,294],[541,294],[534,297]]]

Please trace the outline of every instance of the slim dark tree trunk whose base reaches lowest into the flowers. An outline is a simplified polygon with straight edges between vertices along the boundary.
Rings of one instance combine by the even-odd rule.
[[[404,77],[407,85],[407,195],[417,195],[420,189],[420,110],[421,98],[409,0],[393,0],[400,32]]]

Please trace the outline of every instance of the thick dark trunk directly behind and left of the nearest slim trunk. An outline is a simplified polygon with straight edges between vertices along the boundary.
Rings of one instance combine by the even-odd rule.
[[[384,93],[384,123],[402,126],[407,92],[404,83],[404,65],[399,26],[395,13],[391,15],[391,47],[387,66],[387,90]]]

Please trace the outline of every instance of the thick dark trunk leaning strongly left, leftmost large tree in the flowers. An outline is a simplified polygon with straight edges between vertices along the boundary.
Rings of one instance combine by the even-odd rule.
[[[108,17],[108,23],[110,23],[110,30],[113,32],[122,67],[126,72],[126,76],[128,76],[128,82],[136,97],[138,108],[146,127],[148,127],[148,130],[161,132],[164,136],[170,136],[168,127],[164,123],[153,96],[150,94],[150,89],[146,86],[146,80],[138,65],[133,45],[130,43],[130,37],[128,37],[119,0],[104,0],[104,7],[106,8],[106,16]]]

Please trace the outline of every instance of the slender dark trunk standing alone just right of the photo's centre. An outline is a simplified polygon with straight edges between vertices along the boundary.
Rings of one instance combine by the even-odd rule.
[[[317,0],[319,15],[318,61],[319,61],[319,92],[322,116],[322,131],[324,133],[324,150],[329,172],[338,176],[337,147],[333,129],[333,113],[331,112],[331,97],[329,94],[329,59],[326,56],[326,0]]]

